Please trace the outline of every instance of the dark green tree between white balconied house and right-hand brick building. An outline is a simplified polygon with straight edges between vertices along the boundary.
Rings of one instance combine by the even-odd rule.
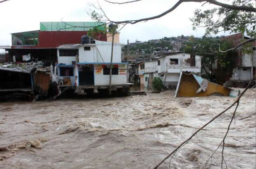
[[[185,53],[190,53],[191,55],[203,56],[201,64],[206,74],[202,76],[222,85],[226,80],[225,77],[232,75],[235,51],[211,53],[219,50],[219,48],[227,50],[231,48],[231,45],[229,41],[225,41],[220,37],[203,36],[202,38],[195,38],[191,36],[189,41],[186,42],[184,50]],[[215,62],[217,62],[217,70],[213,69]]]

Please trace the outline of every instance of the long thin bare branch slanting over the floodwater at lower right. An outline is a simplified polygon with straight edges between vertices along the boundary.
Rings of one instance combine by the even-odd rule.
[[[232,103],[228,108],[226,108],[223,112],[217,114],[217,116],[215,116],[213,119],[211,119],[210,121],[208,121],[205,125],[203,125],[199,130],[197,130],[196,132],[194,132],[188,139],[186,139],[183,143],[181,143],[177,148],[175,148],[174,151],[172,151],[169,155],[167,155],[167,157],[162,160],[156,167],[155,169],[157,169],[165,160],[167,160],[167,158],[169,158],[171,155],[175,154],[179,148],[181,148],[184,144],[187,144],[187,142],[189,142],[199,131],[201,131],[203,128],[205,128],[206,126],[208,126],[208,124],[210,124],[211,122],[213,122],[215,119],[217,119],[219,116],[221,116],[222,114],[224,114],[227,110],[229,110],[231,107],[233,107],[233,105],[239,103],[240,98],[242,97],[242,95],[245,93],[245,91],[247,91],[247,89],[249,89],[249,86],[252,84],[252,82],[254,81],[255,76],[251,79],[251,81],[249,82],[249,84],[247,85],[247,87],[245,88],[244,91],[242,91],[242,93],[240,94],[240,96],[238,96],[238,98],[235,100],[234,103]],[[236,110],[236,109],[235,109]],[[234,112],[235,113],[235,112]],[[232,117],[233,118],[233,117]],[[231,120],[232,122],[232,120]],[[227,133],[226,133],[227,135]],[[226,136],[225,135],[225,136]],[[224,137],[226,138],[226,137]]]

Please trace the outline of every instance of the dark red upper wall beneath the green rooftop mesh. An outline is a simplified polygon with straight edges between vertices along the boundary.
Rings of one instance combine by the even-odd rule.
[[[40,31],[39,48],[56,48],[63,44],[81,43],[81,37],[87,31]],[[102,35],[100,41],[107,41],[107,35]]]

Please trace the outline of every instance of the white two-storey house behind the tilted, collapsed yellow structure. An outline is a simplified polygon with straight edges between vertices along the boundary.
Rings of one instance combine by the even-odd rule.
[[[176,87],[182,71],[201,74],[201,56],[190,56],[183,52],[163,53],[157,61],[137,64],[137,75],[141,87],[153,88],[154,77],[159,77],[166,86]]]

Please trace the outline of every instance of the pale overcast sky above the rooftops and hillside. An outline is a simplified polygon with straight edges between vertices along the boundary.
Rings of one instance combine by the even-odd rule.
[[[112,0],[124,2],[125,0]],[[113,5],[99,0],[107,16],[114,21],[154,16],[172,7],[178,0],[142,0],[125,5]],[[40,21],[91,21],[88,12],[96,0],[9,0],[0,3],[0,46],[11,45],[14,32],[39,30]],[[147,41],[162,37],[194,35],[201,37],[203,29],[192,30],[189,18],[197,8],[208,9],[214,5],[187,2],[170,14],[152,21],[127,25],[120,34],[121,43]],[[219,35],[222,35],[221,33]]]

